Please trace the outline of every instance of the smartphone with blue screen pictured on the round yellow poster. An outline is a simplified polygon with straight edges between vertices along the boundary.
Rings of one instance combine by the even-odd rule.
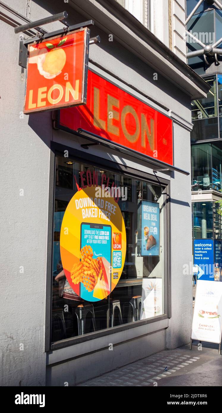
[[[102,263],[102,271],[92,291],[80,282],[79,295],[88,301],[98,301],[111,292],[111,254],[112,254],[112,228],[111,225],[96,223],[81,223],[80,249],[91,247],[93,259],[99,258]]]

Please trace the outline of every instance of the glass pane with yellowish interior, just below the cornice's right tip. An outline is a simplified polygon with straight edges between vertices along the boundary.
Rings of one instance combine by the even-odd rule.
[[[216,76],[205,78],[205,81],[210,85],[210,90],[207,97],[191,102],[192,121],[217,116]]]

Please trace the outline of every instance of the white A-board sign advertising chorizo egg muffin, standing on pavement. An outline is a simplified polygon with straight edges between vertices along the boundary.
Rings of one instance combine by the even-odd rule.
[[[222,332],[222,282],[198,280],[191,339],[220,343]]]

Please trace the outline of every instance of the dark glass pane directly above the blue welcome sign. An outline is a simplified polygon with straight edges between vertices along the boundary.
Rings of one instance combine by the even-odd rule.
[[[213,238],[212,202],[193,202],[193,238]]]

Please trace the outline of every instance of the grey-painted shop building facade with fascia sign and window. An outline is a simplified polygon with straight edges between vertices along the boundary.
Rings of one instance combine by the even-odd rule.
[[[184,274],[184,266],[192,261],[190,104],[206,99],[209,86],[185,62],[184,1],[161,2],[158,12],[158,2],[141,2],[135,17],[136,3],[0,2],[7,45],[1,59],[3,386],[76,385],[189,342],[192,274]],[[24,115],[26,68],[20,64],[19,40],[35,37],[36,30],[19,36],[14,27],[59,13],[61,7],[68,25],[92,19],[90,37],[101,39],[89,47],[85,109]],[[43,29],[63,27],[54,22]],[[93,113],[88,104],[92,90]],[[65,261],[81,237],[69,207],[85,185],[92,186],[93,177],[99,186],[127,189],[116,207],[124,222],[117,229],[126,234],[126,258],[121,249],[123,269],[116,284],[119,259],[114,244],[106,243],[115,288],[104,298],[86,301],[76,293],[79,284],[85,291],[84,282],[77,280],[77,270],[67,275]],[[143,224],[144,208],[153,211],[149,225]],[[61,246],[67,214],[73,215],[72,231]],[[84,225],[89,225],[86,220]],[[111,242],[108,228],[105,236]],[[150,247],[148,237],[149,242],[156,237]],[[118,237],[115,244],[121,244]],[[100,257],[100,249],[96,252]],[[66,278],[59,279],[62,271]],[[90,276],[95,283],[92,268]]]

